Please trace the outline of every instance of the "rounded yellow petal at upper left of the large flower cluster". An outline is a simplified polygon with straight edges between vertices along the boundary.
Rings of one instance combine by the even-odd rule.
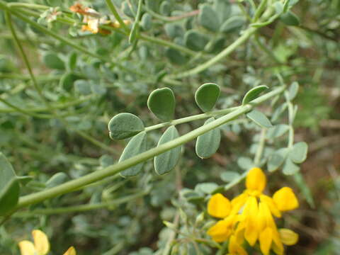
[[[225,218],[231,209],[230,201],[221,193],[213,195],[208,202],[208,213],[213,217]]]

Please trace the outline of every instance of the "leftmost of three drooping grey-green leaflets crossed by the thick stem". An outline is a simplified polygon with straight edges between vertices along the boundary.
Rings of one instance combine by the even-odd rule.
[[[147,132],[140,132],[135,137],[132,137],[128,145],[126,145],[122,155],[119,158],[118,162],[123,162],[125,159],[130,159],[130,157],[134,157],[142,152],[147,150]],[[129,169],[120,172],[120,175],[123,177],[135,176],[140,174],[142,170],[144,162],[137,164],[135,166],[131,166]]]

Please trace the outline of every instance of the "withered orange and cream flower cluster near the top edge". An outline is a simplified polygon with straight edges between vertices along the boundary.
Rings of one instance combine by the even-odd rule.
[[[108,20],[106,16],[101,16],[101,13],[98,13],[98,11],[94,10],[93,8],[84,7],[81,4],[74,4],[69,9],[74,13],[79,13],[84,16],[83,23],[85,23],[85,25],[81,27],[81,30],[83,31],[108,35],[111,33],[111,31],[100,28],[101,25],[111,26],[113,28],[120,28],[120,23],[118,21]],[[125,23],[125,25],[130,24],[129,20],[124,20],[123,22]]]

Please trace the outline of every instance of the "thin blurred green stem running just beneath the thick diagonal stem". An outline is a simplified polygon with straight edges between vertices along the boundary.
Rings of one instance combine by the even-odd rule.
[[[120,205],[122,203],[127,203],[130,200],[135,200],[136,198],[140,198],[145,196],[147,193],[136,193],[134,195],[125,196],[123,198],[117,198],[113,202],[106,203],[94,203],[89,205],[74,205],[68,206],[64,208],[47,208],[47,209],[36,209],[30,212],[18,212],[16,217],[36,217],[37,215],[55,215],[62,213],[70,213],[70,212],[86,212],[89,210],[98,210],[103,208],[111,208],[116,205]]]

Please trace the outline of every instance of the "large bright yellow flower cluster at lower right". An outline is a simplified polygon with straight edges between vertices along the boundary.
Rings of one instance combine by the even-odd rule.
[[[291,188],[284,187],[273,197],[263,194],[266,176],[259,168],[250,169],[246,176],[246,189],[229,201],[217,193],[208,202],[208,213],[219,220],[208,229],[208,234],[215,242],[229,239],[229,254],[246,255],[243,244],[254,246],[259,242],[262,254],[271,250],[278,255],[284,254],[285,245],[297,242],[298,235],[290,229],[278,229],[274,217],[281,217],[281,212],[293,210],[299,206]]]

